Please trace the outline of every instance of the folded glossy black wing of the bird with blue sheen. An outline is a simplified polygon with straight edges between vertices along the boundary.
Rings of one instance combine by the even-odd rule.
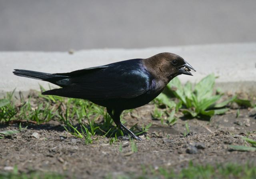
[[[146,93],[151,84],[148,72],[138,66],[114,65],[85,74],[79,71],[79,75],[75,72],[69,74],[71,78],[57,82],[66,83],[64,88],[43,94],[81,99],[132,98]]]

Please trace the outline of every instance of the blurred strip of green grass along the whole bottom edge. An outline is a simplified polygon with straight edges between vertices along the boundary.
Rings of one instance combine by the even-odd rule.
[[[216,165],[196,165],[191,161],[188,167],[175,172],[171,167],[159,167],[154,169],[151,166],[142,166],[141,175],[118,175],[112,177],[108,175],[107,179],[255,179],[256,166],[247,164],[216,164]],[[42,173],[33,171],[31,173],[18,173],[14,169],[13,172],[0,173],[0,179],[64,179],[67,176],[57,173]],[[73,177],[75,178],[75,177]]]

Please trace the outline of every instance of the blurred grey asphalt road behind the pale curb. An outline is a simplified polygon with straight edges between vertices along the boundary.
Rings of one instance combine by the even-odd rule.
[[[256,42],[255,0],[0,0],[0,51]]]

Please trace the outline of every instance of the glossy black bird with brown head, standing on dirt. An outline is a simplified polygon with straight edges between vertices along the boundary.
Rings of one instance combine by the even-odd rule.
[[[182,57],[164,52],[150,58],[124,60],[68,73],[15,69],[13,74],[61,87],[44,91],[43,95],[86,99],[106,107],[119,129],[134,139],[142,140],[120,122],[122,111],[149,103],[174,77],[181,74],[193,76],[191,70],[194,68]]]

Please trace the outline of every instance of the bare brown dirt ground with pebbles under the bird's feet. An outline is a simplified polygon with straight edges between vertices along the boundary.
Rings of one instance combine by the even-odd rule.
[[[168,167],[175,171],[188,165],[246,163],[256,165],[255,152],[232,151],[228,145],[244,145],[241,136],[256,139],[256,111],[231,109],[225,115],[216,115],[211,121],[178,119],[173,126],[152,120],[154,105],[145,105],[126,113],[127,126],[152,123],[146,139],[136,141],[138,152],[132,153],[129,141],[110,145],[109,138],[98,137],[85,145],[84,139],[68,134],[57,122],[28,125],[27,130],[0,139],[0,172],[17,165],[19,171],[53,171],[68,177],[98,178],[125,174],[142,174],[142,167]],[[190,134],[184,137],[185,123]],[[25,127],[25,125],[23,125]],[[16,129],[18,124],[0,125],[0,131]],[[39,133],[39,139],[31,137]],[[168,137],[169,136],[169,137]],[[95,137],[95,138],[96,138]],[[122,143],[122,151],[120,151]]]

